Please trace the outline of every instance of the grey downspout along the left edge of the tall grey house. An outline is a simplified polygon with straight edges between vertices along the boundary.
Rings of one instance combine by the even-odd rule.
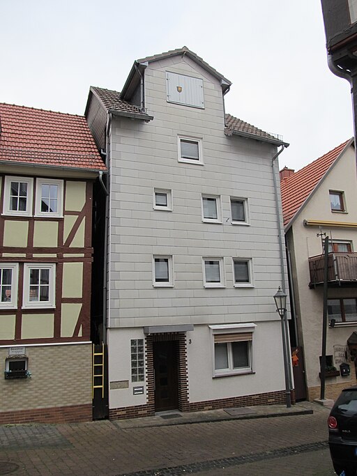
[[[111,122],[112,122],[112,114],[109,112],[108,117],[107,117],[107,128],[106,128],[106,135],[107,135],[107,140],[106,140],[106,146],[105,146],[105,164],[107,165],[107,169],[109,171],[108,176],[109,176],[109,185],[110,185],[110,127],[111,127]],[[102,190],[105,193],[105,225],[104,225],[104,249],[103,249],[103,254],[104,254],[104,266],[103,266],[103,302],[102,302],[102,311],[103,311],[103,317],[102,317],[102,341],[103,344],[107,344],[107,297],[108,297],[108,261],[109,261],[109,256],[108,256],[108,248],[109,248],[109,243],[108,243],[108,227],[109,227],[109,192],[107,190],[107,187],[105,187],[105,184],[102,181],[102,171],[99,172],[99,182],[102,187]]]

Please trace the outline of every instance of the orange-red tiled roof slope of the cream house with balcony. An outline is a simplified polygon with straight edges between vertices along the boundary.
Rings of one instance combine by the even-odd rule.
[[[340,157],[347,144],[350,145],[352,141],[352,139],[345,141],[295,174],[282,179],[280,188],[284,227],[291,222],[335,160]]]

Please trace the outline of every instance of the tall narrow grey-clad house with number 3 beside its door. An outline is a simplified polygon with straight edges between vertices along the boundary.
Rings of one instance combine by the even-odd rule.
[[[225,114],[230,85],[183,47],[135,61],[121,93],[90,89],[109,169],[96,326],[113,419],[284,402],[274,159],[287,144]]]

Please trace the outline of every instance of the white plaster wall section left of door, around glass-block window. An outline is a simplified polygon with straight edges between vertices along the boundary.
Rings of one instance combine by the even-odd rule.
[[[109,329],[107,335],[109,408],[146,404],[146,382],[131,381],[130,339],[144,339],[142,329]],[[145,362],[146,364],[146,362]],[[110,389],[111,382],[128,381],[128,388]],[[133,395],[132,388],[144,386],[144,394]]]

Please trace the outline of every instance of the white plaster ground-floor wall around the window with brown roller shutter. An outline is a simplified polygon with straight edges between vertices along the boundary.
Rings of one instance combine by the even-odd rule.
[[[261,321],[253,332],[254,374],[213,378],[214,347],[208,325],[195,325],[195,330],[187,333],[187,341],[191,403],[277,392],[285,388],[280,319],[274,323]]]

